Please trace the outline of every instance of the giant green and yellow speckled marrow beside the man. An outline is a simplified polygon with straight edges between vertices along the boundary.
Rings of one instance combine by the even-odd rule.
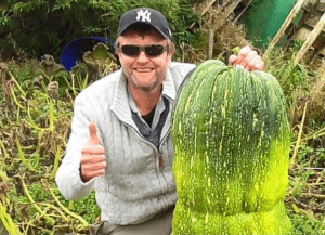
[[[284,198],[290,129],[277,80],[199,65],[173,112],[179,200],[172,234],[290,234]]]

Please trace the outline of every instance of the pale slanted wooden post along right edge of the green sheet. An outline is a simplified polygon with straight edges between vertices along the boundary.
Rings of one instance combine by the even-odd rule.
[[[291,10],[291,12],[289,13],[288,17],[286,18],[286,21],[283,23],[283,25],[281,26],[280,30],[277,31],[276,36],[274,37],[274,39],[272,40],[272,42],[270,43],[268,50],[264,53],[264,56],[268,55],[273,48],[281,41],[281,39],[283,38],[287,27],[291,24],[292,19],[296,17],[296,15],[299,13],[300,9],[302,8],[302,4],[304,3],[306,0],[299,0],[296,5],[294,6],[294,9]]]

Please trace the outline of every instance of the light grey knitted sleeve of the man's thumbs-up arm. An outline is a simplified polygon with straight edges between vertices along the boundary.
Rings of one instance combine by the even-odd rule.
[[[90,138],[89,123],[95,121],[94,117],[89,100],[81,92],[75,100],[72,134],[55,177],[62,195],[72,200],[86,196],[94,187],[95,179],[83,183],[80,177],[81,148]]]

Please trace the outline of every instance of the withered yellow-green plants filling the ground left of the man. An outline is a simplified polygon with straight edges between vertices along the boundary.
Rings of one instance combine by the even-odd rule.
[[[36,66],[40,64],[13,61],[0,73],[6,75],[0,76],[0,199],[10,201],[3,205],[22,234],[87,234],[101,213],[95,192],[69,201],[54,178],[67,144],[74,100],[93,80],[82,64],[70,74],[47,74]],[[114,63],[102,66],[103,76],[117,69]]]

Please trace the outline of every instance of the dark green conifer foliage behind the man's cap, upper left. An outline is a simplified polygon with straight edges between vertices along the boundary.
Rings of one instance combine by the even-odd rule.
[[[47,52],[58,61],[67,42],[78,37],[116,39],[120,16],[128,10],[148,6],[164,13],[174,32],[174,42],[198,41],[186,28],[198,15],[186,0],[11,0],[0,5],[0,54],[3,60],[26,52],[40,57]],[[21,52],[22,53],[22,52]]]

